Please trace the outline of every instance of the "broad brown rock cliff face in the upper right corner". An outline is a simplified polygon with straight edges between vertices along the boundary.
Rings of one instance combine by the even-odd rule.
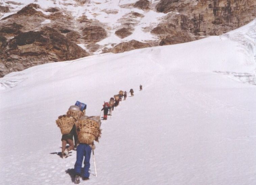
[[[156,10],[164,13],[172,12],[163,21],[172,23],[193,35],[220,35],[255,19],[256,1],[161,0]]]

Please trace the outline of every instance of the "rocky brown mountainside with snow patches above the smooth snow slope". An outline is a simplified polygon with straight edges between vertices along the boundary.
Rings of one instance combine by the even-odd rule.
[[[0,76],[49,62],[221,35],[255,17],[255,0],[3,0]]]

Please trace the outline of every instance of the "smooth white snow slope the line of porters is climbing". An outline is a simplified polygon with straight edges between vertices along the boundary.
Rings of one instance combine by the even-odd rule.
[[[0,184],[73,184],[76,152],[57,155],[55,120],[76,100],[99,115],[103,101],[130,88],[135,96],[102,121],[98,177],[91,157],[81,184],[255,184],[255,86],[232,75],[255,74],[255,27],[1,78]]]

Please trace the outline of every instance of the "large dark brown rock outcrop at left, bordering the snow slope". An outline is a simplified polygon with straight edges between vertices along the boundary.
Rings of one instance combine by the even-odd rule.
[[[4,53],[1,60],[8,68],[8,71],[0,72],[0,76],[34,65],[74,60],[89,55],[59,31],[50,27],[43,27],[40,31],[20,33],[7,43],[6,39],[2,37],[0,39]]]

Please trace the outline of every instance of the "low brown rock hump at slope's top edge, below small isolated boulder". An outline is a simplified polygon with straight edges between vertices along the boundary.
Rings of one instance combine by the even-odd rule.
[[[131,51],[131,50],[140,49],[140,48],[148,48],[148,47],[151,47],[151,45],[148,43],[139,42],[137,40],[131,40],[128,42],[121,42],[117,44],[114,48],[111,49],[111,52],[123,53],[126,51]]]

